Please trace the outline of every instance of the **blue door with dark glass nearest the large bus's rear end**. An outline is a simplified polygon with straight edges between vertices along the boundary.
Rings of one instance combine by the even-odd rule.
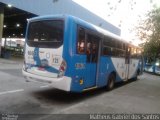
[[[87,36],[85,88],[96,86],[99,40],[95,35]]]

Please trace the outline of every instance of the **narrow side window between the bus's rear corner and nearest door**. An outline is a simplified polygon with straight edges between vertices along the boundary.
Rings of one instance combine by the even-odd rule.
[[[77,39],[77,53],[85,54],[85,30],[83,28],[78,29]]]

